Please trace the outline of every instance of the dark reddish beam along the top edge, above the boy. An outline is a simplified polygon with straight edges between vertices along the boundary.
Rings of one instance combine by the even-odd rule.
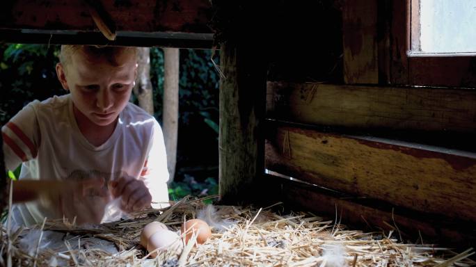
[[[212,15],[207,0],[101,2],[116,23],[117,31],[212,33],[207,26]],[[3,1],[0,28],[97,30],[82,0]]]

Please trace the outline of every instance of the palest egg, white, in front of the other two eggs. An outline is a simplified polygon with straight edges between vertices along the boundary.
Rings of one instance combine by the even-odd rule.
[[[154,250],[173,250],[177,254],[180,254],[183,249],[183,243],[180,236],[168,229],[158,229],[157,232],[150,236],[148,241],[147,250],[152,252]],[[157,253],[152,253],[151,256],[155,257]]]

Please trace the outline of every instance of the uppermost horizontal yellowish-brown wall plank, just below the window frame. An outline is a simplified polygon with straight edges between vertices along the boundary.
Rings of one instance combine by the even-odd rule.
[[[476,90],[268,82],[267,108],[292,122],[476,133]]]

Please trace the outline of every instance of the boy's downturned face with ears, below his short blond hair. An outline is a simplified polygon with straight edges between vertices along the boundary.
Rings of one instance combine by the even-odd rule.
[[[134,54],[125,51],[116,60],[118,66],[113,66],[106,58],[88,58],[83,51],[77,51],[68,65],[56,65],[58,79],[70,91],[74,107],[98,126],[116,122],[134,87]]]

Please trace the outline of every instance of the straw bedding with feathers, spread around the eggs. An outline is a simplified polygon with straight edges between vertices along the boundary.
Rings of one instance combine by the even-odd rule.
[[[432,245],[398,243],[391,233],[364,233],[324,221],[312,213],[279,216],[270,209],[215,206],[205,216],[212,238],[181,254],[159,251],[155,259],[139,237],[152,221],[180,231],[184,220],[205,211],[202,200],[189,197],[162,210],[99,226],[78,227],[63,220],[45,221],[8,235],[2,228],[3,266],[473,266],[472,249],[459,254]],[[211,206],[208,206],[211,207]],[[29,234],[30,233],[30,234]],[[32,234],[33,233],[33,234]],[[52,234],[55,233],[55,234]],[[180,233],[180,232],[179,232]],[[25,239],[25,236],[30,239]],[[56,235],[56,246],[53,239]],[[33,236],[33,238],[31,238]],[[59,242],[58,242],[59,241]],[[61,246],[57,246],[61,243]],[[90,245],[94,243],[95,245]],[[61,248],[60,248],[61,247]],[[436,256],[438,255],[438,256]]]

